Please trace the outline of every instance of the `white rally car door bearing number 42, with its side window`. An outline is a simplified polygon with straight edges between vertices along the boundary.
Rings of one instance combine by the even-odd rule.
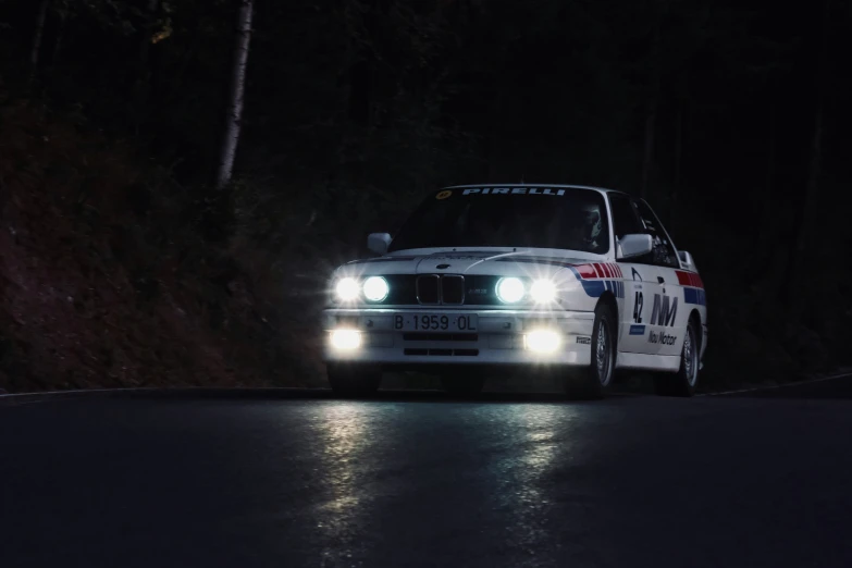
[[[625,235],[645,233],[635,205],[630,196],[607,194],[616,239]],[[623,274],[625,305],[619,314],[618,350],[623,353],[656,354],[659,345],[650,339],[649,298],[662,294],[658,268],[649,263],[650,257],[618,260]]]

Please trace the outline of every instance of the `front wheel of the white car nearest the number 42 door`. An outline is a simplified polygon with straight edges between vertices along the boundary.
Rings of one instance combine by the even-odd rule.
[[[616,363],[616,321],[613,309],[598,304],[592,328],[592,362],[589,367],[571,370],[564,379],[563,388],[571,400],[603,398],[613,385]]]

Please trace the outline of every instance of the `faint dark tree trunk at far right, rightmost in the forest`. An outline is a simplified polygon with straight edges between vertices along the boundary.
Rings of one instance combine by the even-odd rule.
[[[805,270],[807,248],[811,240],[811,233],[815,227],[815,213],[819,208],[819,177],[823,171],[823,123],[824,123],[824,99],[825,99],[825,84],[827,78],[827,36],[828,36],[828,22],[830,13],[831,0],[825,0],[823,10],[823,24],[822,24],[822,41],[819,46],[819,53],[817,55],[817,77],[816,77],[816,103],[814,107],[814,129],[811,136],[811,158],[807,172],[807,186],[805,189],[804,210],[802,212],[802,220],[799,224],[799,231],[795,236],[795,246],[793,248],[791,273],[790,273],[790,287],[788,289],[788,302],[789,302],[789,321],[792,324],[799,323],[805,299],[811,295],[804,293],[804,274],[808,277],[813,277],[811,273]]]

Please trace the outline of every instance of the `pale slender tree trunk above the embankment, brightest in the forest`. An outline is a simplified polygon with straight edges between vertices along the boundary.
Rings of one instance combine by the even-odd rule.
[[[234,42],[234,62],[231,74],[231,91],[227,102],[227,114],[222,136],[222,149],[219,155],[219,171],[215,178],[217,189],[231,182],[234,170],[237,144],[239,143],[239,126],[243,120],[243,92],[246,84],[246,67],[248,66],[248,49],[251,39],[251,12],[254,0],[239,0]]]

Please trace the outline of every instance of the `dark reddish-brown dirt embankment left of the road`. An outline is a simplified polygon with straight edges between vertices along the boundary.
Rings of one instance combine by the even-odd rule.
[[[187,199],[131,145],[0,108],[0,388],[300,383]]]

